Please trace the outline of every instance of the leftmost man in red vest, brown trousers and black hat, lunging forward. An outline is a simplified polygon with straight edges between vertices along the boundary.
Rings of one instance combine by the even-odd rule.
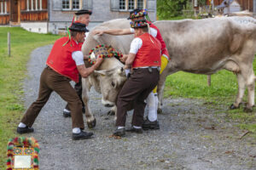
[[[86,68],[84,59],[87,57],[82,53],[79,43],[84,42],[84,32],[88,30],[84,24],[77,22],[73,23],[69,30],[71,37],[61,37],[51,49],[46,67],[40,77],[38,99],[30,105],[22,117],[17,127],[17,133],[32,133],[34,131],[32,124],[48,101],[50,94],[55,91],[67,101],[70,107],[73,139],[89,139],[93,135],[93,133],[86,133],[82,130],[84,129],[82,102],[70,81],[79,82],[79,74],[82,77],[88,77],[101,65],[102,58],[98,57],[95,65]]]

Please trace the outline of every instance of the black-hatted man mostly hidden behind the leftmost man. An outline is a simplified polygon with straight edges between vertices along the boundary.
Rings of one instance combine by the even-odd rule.
[[[76,12],[75,14],[76,14],[76,20],[77,21],[84,24],[85,26],[89,26],[90,15],[92,14],[92,12],[90,10],[81,9],[78,12]],[[83,45],[83,43],[81,43],[80,45]],[[79,95],[79,98],[82,102],[82,111],[83,111],[83,113],[85,113],[84,102],[83,102],[83,99],[82,99],[82,80],[81,80],[81,76],[79,76],[79,82],[75,83],[74,89],[75,89],[76,93]],[[70,109],[69,109],[68,105],[66,105],[66,107],[63,111],[63,116],[64,117],[70,117],[71,116]]]

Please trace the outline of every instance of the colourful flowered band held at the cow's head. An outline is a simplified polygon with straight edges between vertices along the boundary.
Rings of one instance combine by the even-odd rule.
[[[112,47],[108,47],[106,45],[97,45],[95,48],[90,49],[89,54],[92,54],[92,52],[95,52],[96,55],[98,55],[98,57],[100,58],[111,58],[111,57],[118,57],[118,58],[122,58],[123,54],[117,52],[114,48]],[[88,61],[91,65],[95,64],[95,61],[92,61],[90,59],[90,55],[88,58]]]

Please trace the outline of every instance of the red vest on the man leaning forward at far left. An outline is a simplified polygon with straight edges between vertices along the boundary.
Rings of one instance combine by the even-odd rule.
[[[62,76],[68,77],[74,82],[79,82],[79,71],[75,61],[72,59],[72,53],[74,51],[81,51],[81,45],[77,44],[73,38],[69,42],[67,41],[68,37],[61,37],[55,42],[46,65]],[[67,44],[63,46],[66,42]]]

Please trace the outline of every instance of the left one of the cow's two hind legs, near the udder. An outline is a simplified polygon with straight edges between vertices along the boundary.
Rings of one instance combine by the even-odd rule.
[[[238,94],[236,96],[236,101],[234,104],[230,105],[230,109],[237,109],[241,105],[241,100],[246,89],[246,82],[242,77],[241,73],[236,74],[237,82],[238,82]]]

